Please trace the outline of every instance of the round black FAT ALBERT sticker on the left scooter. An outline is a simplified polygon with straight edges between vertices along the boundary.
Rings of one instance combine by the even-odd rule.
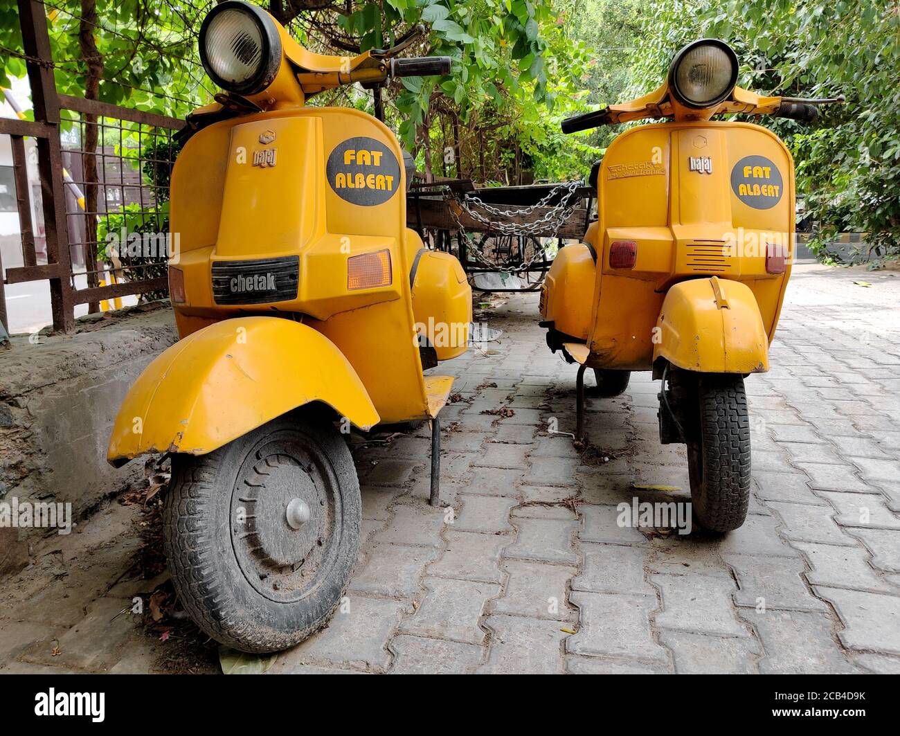
[[[360,136],[338,143],[325,174],[338,196],[363,207],[387,202],[400,188],[400,164],[380,140]]]

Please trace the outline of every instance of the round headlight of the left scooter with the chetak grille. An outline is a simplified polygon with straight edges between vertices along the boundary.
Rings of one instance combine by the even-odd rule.
[[[281,65],[275,22],[256,5],[229,0],[215,6],[200,27],[200,58],[211,80],[236,94],[257,94]]]

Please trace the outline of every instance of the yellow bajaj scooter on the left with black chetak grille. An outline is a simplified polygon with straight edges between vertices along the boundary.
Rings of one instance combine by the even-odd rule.
[[[108,460],[171,453],[175,589],[239,650],[302,641],[347,589],[361,501],[340,431],[432,420],[438,500],[437,413],[453,379],[423,370],[466,350],[471,290],[455,257],[406,228],[392,132],[304,106],[338,85],[449,72],[449,58],[398,50],[311,53],[243,2],[202,23],[203,66],[227,92],[188,117],[172,175],[181,340],[131,388]]]

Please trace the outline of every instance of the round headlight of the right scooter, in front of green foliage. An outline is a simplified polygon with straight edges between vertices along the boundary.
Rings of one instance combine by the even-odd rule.
[[[669,86],[675,98],[695,109],[713,107],[732,93],[737,82],[737,56],[724,41],[689,43],[672,59]]]

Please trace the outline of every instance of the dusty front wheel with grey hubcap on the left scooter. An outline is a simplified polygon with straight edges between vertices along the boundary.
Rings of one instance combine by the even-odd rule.
[[[309,511],[299,528],[287,518],[293,498]],[[280,651],[338,608],[361,518],[356,468],[334,426],[280,417],[213,453],[175,455],[163,516],[169,572],[213,639]]]

